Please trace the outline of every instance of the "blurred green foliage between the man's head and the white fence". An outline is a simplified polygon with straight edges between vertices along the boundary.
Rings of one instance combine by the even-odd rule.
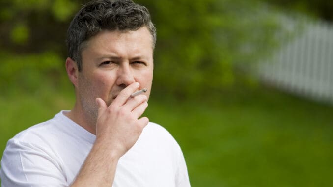
[[[156,23],[154,86],[164,92],[228,89],[238,79],[238,64],[253,63],[278,44],[278,14],[255,1],[138,2]]]

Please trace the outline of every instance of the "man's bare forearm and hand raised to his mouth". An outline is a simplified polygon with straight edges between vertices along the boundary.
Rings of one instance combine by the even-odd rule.
[[[96,141],[71,187],[112,185],[119,158],[135,144],[149,122],[147,117],[138,119],[148,106],[147,97],[130,98],[138,88],[137,82],[127,86],[109,107],[101,98],[96,99]]]

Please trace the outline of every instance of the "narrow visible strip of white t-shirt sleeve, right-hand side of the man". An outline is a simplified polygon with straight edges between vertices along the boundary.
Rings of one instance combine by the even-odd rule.
[[[176,187],[191,187],[185,158],[180,147],[178,151],[178,168],[175,179],[176,179],[176,185],[175,185]]]

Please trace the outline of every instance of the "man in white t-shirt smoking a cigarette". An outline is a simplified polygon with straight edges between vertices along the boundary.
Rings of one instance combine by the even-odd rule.
[[[75,106],[8,141],[2,187],[189,187],[179,145],[140,118],[148,106],[155,42],[145,7],[131,0],[83,6],[67,36]]]

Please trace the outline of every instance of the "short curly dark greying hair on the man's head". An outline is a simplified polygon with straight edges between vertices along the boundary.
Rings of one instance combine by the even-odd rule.
[[[132,0],[92,0],[83,5],[67,30],[68,55],[82,70],[82,51],[86,42],[102,30],[134,31],[147,27],[156,45],[156,28],[146,7]]]

